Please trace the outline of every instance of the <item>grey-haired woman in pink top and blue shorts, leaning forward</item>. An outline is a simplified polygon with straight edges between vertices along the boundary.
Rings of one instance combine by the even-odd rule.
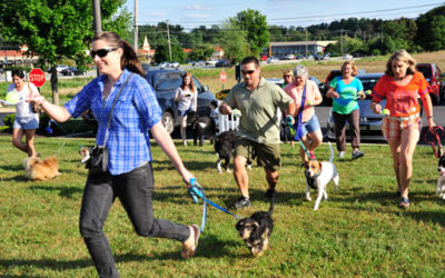
[[[304,66],[297,66],[294,69],[294,82],[287,85],[285,87],[285,91],[294,99],[294,102],[297,107],[295,111],[295,122],[298,122],[298,113],[299,110],[303,109],[301,112],[301,142],[305,145],[306,149],[309,152],[309,159],[315,159],[314,150],[320,146],[323,141],[322,129],[318,123],[317,116],[315,115],[315,106],[322,103],[323,98],[318,90],[318,86],[308,80],[308,71]],[[303,92],[306,88],[306,97],[305,102],[301,105]],[[303,148],[300,148],[300,155],[303,161],[307,161],[308,158]]]

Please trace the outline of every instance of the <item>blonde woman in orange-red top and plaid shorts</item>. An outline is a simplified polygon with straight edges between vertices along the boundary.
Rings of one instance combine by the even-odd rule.
[[[382,131],[393,155],[400,208],[409,207],[408,186],[413,175],[413,155],[422,128],[418,97],[424,103],[429,130],[433,131],[436,126],[427,93],[428,83],[415,67],[416,61],[405,50],[393,53],[386,62],[385,76],[373,89],[370,105],[375,113],[382,113],[378,102],[384,98],[387,100],[385,109],[389,112],[383,119]]]

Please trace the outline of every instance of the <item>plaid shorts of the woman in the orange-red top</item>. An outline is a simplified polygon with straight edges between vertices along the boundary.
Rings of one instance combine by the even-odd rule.
[[[400,140],[402,131],[407,129],[417,129],[421,132],[422,119],[421,117],[411,117],[406,120],[400,120],[396,117],[384,117],[382,121],[382,133],[385,139]]]

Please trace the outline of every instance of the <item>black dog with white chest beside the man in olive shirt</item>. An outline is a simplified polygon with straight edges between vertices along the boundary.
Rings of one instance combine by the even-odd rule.
[[[196,111],[190,111],[187,113],[187,121],[191,126],[191,130],[194,133],[194,145],[196,146],[199,138],[199,146],[204,146],[204,136],[207,136],[210,139],[210,142],[214,142],[215,133],[216,133],[216,123],[215,120],[208,116],[199,117]]]

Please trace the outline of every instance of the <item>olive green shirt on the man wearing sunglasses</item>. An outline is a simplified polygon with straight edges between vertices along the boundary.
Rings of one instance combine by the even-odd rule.
[[[241,111],[238,136],[261,143],[279,143],[279,117],[294,100],[277,85],[260,78],[250,91],[245,82],[231,88],[225,102]],[[281,112],[279,113],[281,115]]]

